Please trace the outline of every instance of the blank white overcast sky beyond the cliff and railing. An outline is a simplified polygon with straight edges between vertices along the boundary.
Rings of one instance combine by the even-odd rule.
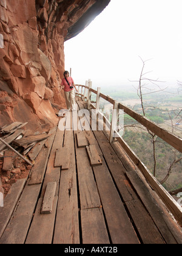
[[[138,80],[143,60],[147,76],[182,81],[181,0],[111,0],[75,38],[65,43],[66,69],[75,84],[126,86]],[[130,83],[131,84],[131,83]]]

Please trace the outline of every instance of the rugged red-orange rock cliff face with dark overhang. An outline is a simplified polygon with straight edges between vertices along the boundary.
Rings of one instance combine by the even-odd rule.
[[[0,1],[0,127],[29,121],[30,129],[58,123],[64,41],[75,37],[110,0]]]

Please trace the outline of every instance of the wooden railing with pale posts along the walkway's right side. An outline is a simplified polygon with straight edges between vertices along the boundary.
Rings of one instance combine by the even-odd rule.
[[[100,99],[105,99],[106,101],[110,102],[110,104],[113,105],[113,110],[123,110],[124,113],[127,113],[127,115],[131,116],[133,119],[138,121],[141,125],[146,127],[150,132],[154,133],[166,143],[170,144],[173,148],[177,149],[177,151],[182,152],[182,139],[174,135],[173,133],[168,132],[167,130],[161,128],[157,124],[153,123],[146,117],[136,113],[132,109],[126,107],[125,105],[121,104],[120,102],[115,101],[114,99],[110,98],[109,96],[104,95],[101,93],[101,88],[98,87],[97,90],[92,89],[92,82],[89,80],[86,82],[86,85],[76,85],[78,87],[78,93],[77,95],[81,97],[83,101],[87,102],[88,109],[96,109],[96,113],[98,115],[103,116],[103,113],[99,112],[99,104]],[[81,91],[80,91],[81,89]],[[91,95],[92,93],[96,94],[96,105],[94,106],[91,103]],[[119,111],[116,111],[117,115],[119,115]],[[138,166],[140,171],[143,173],[144,177],[146,178],[147,182],[149,182],[150,186],[157,192],[157,194],[161,197],[164,204],[169,208],[170,212],[175,216],[175,218],[182,224],[182,208],[180,205],[174,200],[172,196],[164,189],[164,187],[158,182],[158,180],[151,174],[149,169],[144,165],[144,163],[141,162],[140,158],[137,157],[135,152],[129,147],[129,145],[126,143],[126,141],[123,140],[123,138],[120,136],[120,134],[113,128],[116,127],[116,123],[118,121],[118,116],[112,115],[112,121],[110,122],[110,135],[109,140],[110,143],[113,142],[113,138],[115,137],[116,133],[116,140],[121,144],[123,149],[126,151],[126,153],[129,155],[129,157],[132,159],[132,161]],[[107,120],[106,116],[103,116],[104,120],[109,123],[109,120]]]

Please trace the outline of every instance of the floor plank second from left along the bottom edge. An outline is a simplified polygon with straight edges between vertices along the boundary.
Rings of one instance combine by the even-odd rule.
[[[0,244],[24,244],[32,221],[41,185],[25,186]]]

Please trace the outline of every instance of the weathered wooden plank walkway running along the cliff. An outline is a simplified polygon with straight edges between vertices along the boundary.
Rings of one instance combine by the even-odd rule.
[[[0,244],[182,243],[181,227],[121,146],[111,145],[106,132],[85,130],[86,118],[65,119],[66,129],[59,129],[61,118],[29,179],[5,197]]]

